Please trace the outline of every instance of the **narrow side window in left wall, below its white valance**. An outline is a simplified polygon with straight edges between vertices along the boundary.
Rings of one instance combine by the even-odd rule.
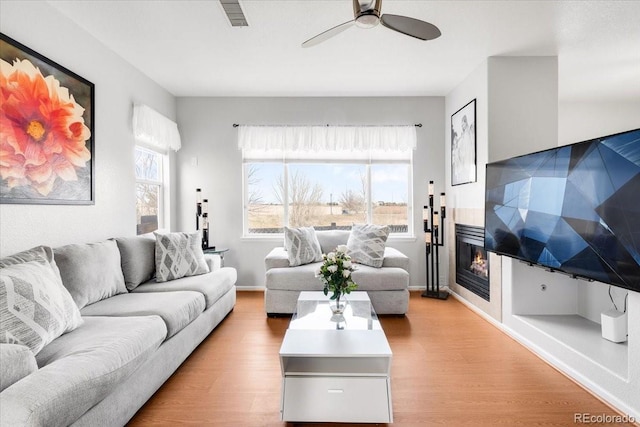
[[[136,230],[149,233],[164,226],[165,155],[136,147]]]

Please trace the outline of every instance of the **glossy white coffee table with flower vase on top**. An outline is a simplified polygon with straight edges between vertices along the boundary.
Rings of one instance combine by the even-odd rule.
[[[280,347],[281,417],[292,422],[393,422],[391,348],[366,292],[344,317],[322,292],[301,292]]]

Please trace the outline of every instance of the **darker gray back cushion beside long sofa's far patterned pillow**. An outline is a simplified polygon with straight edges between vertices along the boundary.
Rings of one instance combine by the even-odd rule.
[[[120,250],[124,284],[128,290],[156,274],[156,238],[153,233],[115,239]]]

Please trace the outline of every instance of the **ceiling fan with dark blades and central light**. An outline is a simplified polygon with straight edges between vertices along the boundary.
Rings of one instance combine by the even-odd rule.
[[[302,47],[315,46],[354,25],[360,28],[373,28],[378,25],[378,23],[381,23],[389,29],[420,40],[433,40],[440,37],[441,33],[438,27],[428,22],[409,18],[408,16],[381,15],[381,5],[382,0],[353,0],[354,19],[311,37],[302,43]]]

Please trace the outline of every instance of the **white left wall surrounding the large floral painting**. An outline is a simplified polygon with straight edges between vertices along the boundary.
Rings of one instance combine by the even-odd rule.
[[[3,33],[95,84],[95,205],[0,205],[0,255],[135,234],[132,105],[175,118],[175,98],[47,2],[1,9]]]

